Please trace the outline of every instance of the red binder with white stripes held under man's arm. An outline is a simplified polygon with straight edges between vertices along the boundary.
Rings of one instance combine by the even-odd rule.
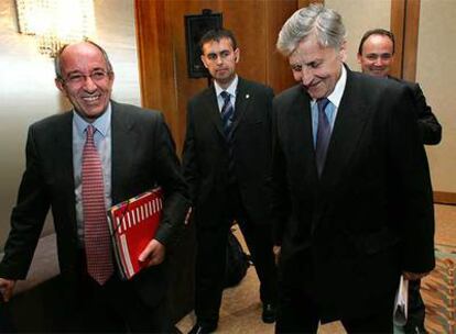
[[[155,236],[162,209],[162,190],[155,188],[108,210],[113,253],[122,279],[132,278],[145,266],[138,257]]]

